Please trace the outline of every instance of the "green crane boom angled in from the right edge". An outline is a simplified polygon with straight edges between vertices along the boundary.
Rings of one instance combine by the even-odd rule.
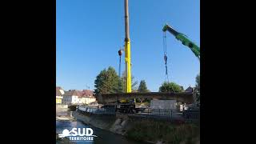
[[[166,26],[163,26],[162,31],[166,32],[166,30],[168,30],[170,34],[173,34],[175,38],[181,41],[183,45],[188,46],[200,61],[200,48],[196,44],[194,44],[194,42],[191,42],[190,39],[188,39],[185,34],[179,33],[178,31],[174,30],[174,28],[172,28],[171,26],[168,26],[167,24]]]

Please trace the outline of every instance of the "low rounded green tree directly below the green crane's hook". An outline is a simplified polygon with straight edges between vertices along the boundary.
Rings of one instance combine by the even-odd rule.
[[[182,92],[182,87],[174,82],[163,82],[162,86],[159,87],[159,92]]]

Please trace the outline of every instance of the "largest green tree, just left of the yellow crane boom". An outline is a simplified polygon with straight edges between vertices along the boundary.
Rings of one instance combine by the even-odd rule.
[[[95,94],[107,94],[122,92],[122,82],[113,67],[104,69],[97,75],[94,81]]]

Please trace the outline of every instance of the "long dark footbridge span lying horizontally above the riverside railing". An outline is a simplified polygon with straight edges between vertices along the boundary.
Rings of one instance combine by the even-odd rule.
[[[134,99],[134,98],[156,98],[166,100],[177,100],[179,102],[193,103],[194,96],[191,92],[182,93],[161,93],[161,92],[150,92],[150,93],[118,93],[118,94],[98,94],[96,99],[98,103],[107,104],[118,102],[123,99]]]

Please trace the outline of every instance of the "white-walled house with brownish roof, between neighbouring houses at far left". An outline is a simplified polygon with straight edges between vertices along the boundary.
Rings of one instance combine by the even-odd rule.
[[[68,90],[63,94],[62,103],[67,105],[82,103],[81,96],[78,90]]]

